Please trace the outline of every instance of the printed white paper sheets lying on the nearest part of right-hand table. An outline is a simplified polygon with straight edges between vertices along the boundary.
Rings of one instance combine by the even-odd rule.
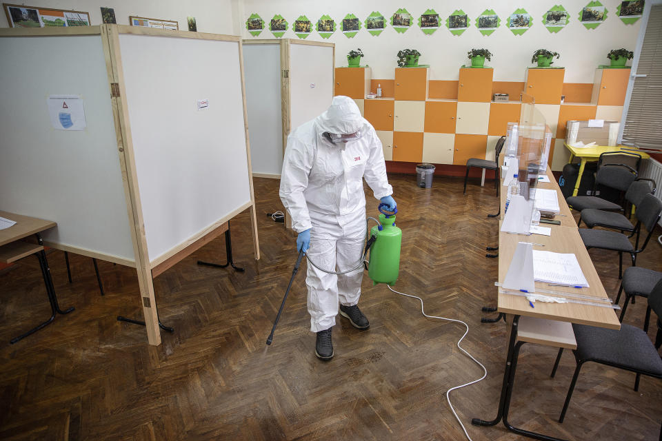
[[[533,274],[536,282],[588,287],[574,254],[533,250]]]

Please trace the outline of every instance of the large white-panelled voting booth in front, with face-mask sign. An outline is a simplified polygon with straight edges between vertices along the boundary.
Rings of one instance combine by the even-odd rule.
[[[125,25],[0,30],[0,207],[57,227],[46,245],[152,277],[249,210],[239,37]],[[138,299],[136,299],[138,300]]]

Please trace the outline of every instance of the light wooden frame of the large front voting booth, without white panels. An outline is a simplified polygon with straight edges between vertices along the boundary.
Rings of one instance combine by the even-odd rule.
[[[239,47],[239,66],[241,78],[241,99],[243,102],[243,132],[245,136],[245,153],[248,165],[250,201],[243,204],[233,212],[226,214],[203,231],[184,240],[179,245],[172,247],[158,258],[150,262],[147,247],[146,229],[143,223],[143,210],[141,206],[140,192],[136,161],[134,157],[134,145],[132,141],[130,120],[128,115],[128,103],[126,99],[125,81],[123,79],[123,68],[121,52],[119,47],[120,34],[141,34],[160,37],[179,37],[186,39],[234,41]],[[121,258],[101,254],[88,249],[62,245],[54,242],[46,242],[46,245],[55,249],[81,254],[92,258],[107,260],[121,265],[135,267],[138,274],[141,306],[146,322],[148,341],[150,345],[161,344],[159,331],[159,317],[157,314],[157,302],[154,298],[153,278],[163,273],[172,265],[189,256],[203,245],[209,243],[228,230],[228,221],[237,214],[249,210],[252,243],[254,257],[260,258],[259,238],[257,233],[257,216],[255,212],[255,199],[252,183],[252,169],[250,165],[250,144],[248,141],[248,114],[246,111],[245,80],[243,76],[243,51],[241,38],[229,35],[208,34],[203,32],[187,32],[181,30],[162,30],[157,28],[143,28],[130,25],[104,24],[98,26],[81,26],[73,28],[6,28],[0,29],[1,37],[57,37],[72,35],[100,35],[103,45],[103,56],[106,60],[108,74],[108,93],[111,96],[112,115],[114,119],[115,135],[117,138],[117,152],[119,166],[122,174],[123,192],[126,200],[126,209],[130,224],[130,234],[134,250],[134,262]]]

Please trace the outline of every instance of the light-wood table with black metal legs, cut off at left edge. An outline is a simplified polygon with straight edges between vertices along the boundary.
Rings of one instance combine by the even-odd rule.
[[[56,314],[69,314],[74,310],[74,308],[70,307],[65,311],[62,311],[58,305],[57,296],[55,295],[55,289],[53,287],[53,281],[50,277],[48,261],[46,260],[46,252],[43,250],[43,240],[41,239],[41,234],[39,234],[46,229],[55,227],[56,224],[50,220],[32,218],[30,216],[21,216],[20,214],[1,211],[0,217],[14,220],[16,222],[9,228],[0,229],[0,262],[12,263],[32,254],[37,256],[37,259],[39,260],[39,267],[41,267],[43,283],[46,285],[46,294],[48,296],[48,302],[50,302],[51,309],[50,318],[46,320],[46,322],[43,322],[41,325],[30,329],[30,331],[26,332],[25,334],[21,334],[18,337],[12,338],[10,343],[13,344],[21,340],[21,338],[25,338],[48,325],[55,319]],[[32,236],[33,234],[37,237],[37,243],[30,243],[26,240],[23,240],[29,236]]]

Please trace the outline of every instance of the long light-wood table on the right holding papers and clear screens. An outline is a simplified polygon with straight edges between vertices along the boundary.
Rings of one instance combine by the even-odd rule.
[[[561,225],[541,224],[541,226],[552,229],[551,236],[541,236],[538,234],[525,236],[499,232],[499,283],[503,283],[505,279],[505,274],[508,272],[508,267],[510,267],[517,243],[536,243],[543,246],[534,245],[535,249],[575,254],[589,285],[586,288],[574,289],[570,287],[550,287],[547,283],[536,282],[536,289],[552,289],[553,291],[594,296],[596,299],[608,298],[588,251],[583,245],[581,236],[579,236],[577,225],[574,222],[574,218],[572,218],[572,214],[570,214],[570,208],[565,203],[561,189],[556,181],[554,181],[549,169],[547,174],[550,176],[550,181],[552,182],[539,183],[539,187],[556,189],[559,196],[559,208],[561,209],[561,214],[565,216],[557,216],[557,219],[561,220]],[[503,190],[503,187],[501,189]],[[501,191],[499,213],[503,213],[504,208],[505,192]],[[503,222],[503,216],[501,217],[499,227],[501,227],[501,222]],[[503,373],[501,397],[499,398],[499,407],[494,420],[485,421],[474,418],[472,424],[477,426],[493,426],[503,420],[503,424],[508,430],[519,435],[525,435],[539,440],[558,440],[558,438],[542,435],[541,433],[519,429],[508,422],[508,411],[510,409],[517,358],[521,346],[526,342],[530,342],[552,347],[576,349],[572,323],[581,323],[583,325],[605,327],[608,329],[620,329],[621,324],[619,319],[614,309],[610,307],[580,305],[570,302],[563,304],[535,302],[534,307],[531,307],[529,301],[523,296],[513,296],[510,294],[501,294],[499,291],[497,292],[498,304],[496,310],[499,311],[500,316],[501,314],[506,315],[506,322],[510,325],[508,354]]]

